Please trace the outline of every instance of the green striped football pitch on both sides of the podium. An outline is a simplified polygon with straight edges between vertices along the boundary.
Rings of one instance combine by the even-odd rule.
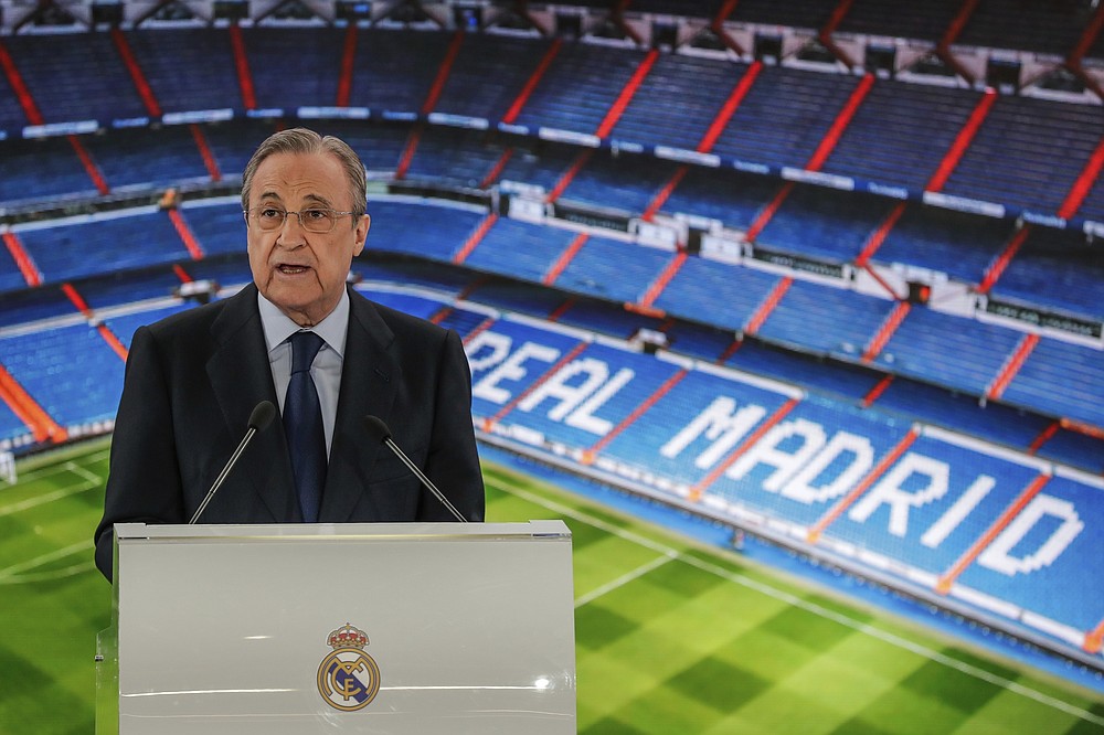
[[[0,733],[94,731],[107,445],[0,484]],[[1101,733],[1104,696],[486,466],[488,519],[574,543],[581,733]]]

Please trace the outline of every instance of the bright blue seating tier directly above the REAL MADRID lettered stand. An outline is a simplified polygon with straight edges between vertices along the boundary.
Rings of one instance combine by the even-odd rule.
[[[563,223],[488,214],[478,204],[381,195],[369,212],[374,217],[369,239],[373,256],[463,264],[473,273],[554,286],[614,305],[639,303],[676,260],[662,248],[581,233]],[[241,253],[243,228],[240,203],[226,196],[184,202],[168,212],[141,207],[13,225],[11,234],[44,284],[88,280],[95,289],[97,279],[118,278],[119,271],[233,258]],[[134,247],[139,241],[150,244]],[[81,257],[74,257],[77,246]],[[167,286],[160,288],[161,295],[169,292]],[[778,274],[755,260],[726,263],[703,255],[686,258],[655,302],[688,323],[940,386],[952,392],[948,403],[963,393],[1000,398],[1041,416],[1104,424],[1104,374],[1100,349],[1091,344],[1032,337],[1004,323],[916,306],[903,311],[875,348],[899,311],[893,301],[796,271]],[[1006,366],[1026,344],[1032,351],[995,393]]]

